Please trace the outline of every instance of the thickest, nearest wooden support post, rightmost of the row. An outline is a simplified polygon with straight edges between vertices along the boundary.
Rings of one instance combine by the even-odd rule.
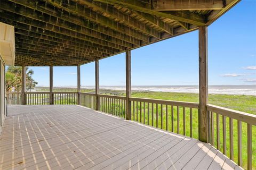
[[[207,26],[199,28],[199,140],[209,142],[208,103],[208,44]]]

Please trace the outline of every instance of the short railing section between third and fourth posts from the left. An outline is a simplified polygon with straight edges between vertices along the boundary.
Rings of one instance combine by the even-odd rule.
[[[80,105],[91,109],[95,109],[95,97],[95,94],[79,92]]]

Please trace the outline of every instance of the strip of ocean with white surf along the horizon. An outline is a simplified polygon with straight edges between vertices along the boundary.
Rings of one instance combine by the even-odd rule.
[[[43,87],[43,86],[41,86]],[[55,86],[58,88],[77,88],[76,86]],[[37,87],[39,88],[39,87]],[[94,89],[94,86],[81,86],[84,89]],[[125,90],[125,86],[100,86],[100,89]],[[132,86],[132,90],[158,92],[199,93],[198,86]],[[209,94],[253,95],[256,96],[256,85],[215,85],[209,86]]]

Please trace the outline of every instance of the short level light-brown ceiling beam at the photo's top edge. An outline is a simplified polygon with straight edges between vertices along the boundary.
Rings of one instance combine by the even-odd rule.
[[[225,0],[158,0],[153,5],[156,11],[221,10],[223,7],[225,7]]]

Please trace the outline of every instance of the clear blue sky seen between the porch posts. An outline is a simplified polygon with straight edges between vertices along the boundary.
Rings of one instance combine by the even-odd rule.
[[[256,84],[256,1],[242,1],[208,28],[209,84]],[[132,85],[198,85],[198,31],[132,50]],[[31,67],[49,86],[49,67]],[[76,67],[54,67],[54,86],[76,86]],[[94,63],[81,66],[94,86]],[[125,85],[125,54],[100,60],[100,86]]]

